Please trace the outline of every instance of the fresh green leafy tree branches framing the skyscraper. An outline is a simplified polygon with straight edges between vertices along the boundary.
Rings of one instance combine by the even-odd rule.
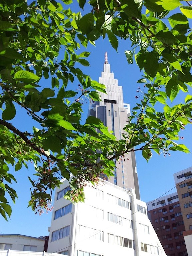
[[[175,141],[180,129],[192,121],[192,96],[187,94],[184,104],[173,103],[179,91],[188,93],[192,85],[190,3],[93,0],[92,11],[83,17],[71,11],[71,3],[0,1],[0,214],[6,220],[11,214],[7,196],[13,202],[17,197],[9,186],[15,181],[12,170],[27,168],[29,161],[36,170],[36,180],[29,177],[29,206],[41,213],[43,208],[49,210],[60,179],[69,179],[70,174],[74,178],[66,198],[78,202],[84,200],[86,182],[97,183],[100,174],[113,175],[113,160],[128,152],[141,150],[147,161],[153,151],[189,152]],[[82,9],[87,5],[85,0],[78,3]],[[120,141],[97,118],[88,117],[80,124],[83,98],[99,101],[98,92],[105,92],[103,85],[76,67],[76,63],[89,66],[85,48],[99,37],[108,37],[116,50],[118,39],[130,40],[132,49],[125,51],[128,63],[135,56],[144,72],[143,78],[138,77],[144,84],[141,103],[133,108]],[[79,80],[78,93],[69,86],[74,77]],[[49,79],[46,88],[41,87],[43,79]],[[21,131],[14,126],[18,107],[38,128]]]

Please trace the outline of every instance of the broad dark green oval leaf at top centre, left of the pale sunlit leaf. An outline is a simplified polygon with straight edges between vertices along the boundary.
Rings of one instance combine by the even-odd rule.
[[[78,26],[83,35],[90,33],[94,28],[93,13],[88,13],[88,14],[84,15],[79,20]]]

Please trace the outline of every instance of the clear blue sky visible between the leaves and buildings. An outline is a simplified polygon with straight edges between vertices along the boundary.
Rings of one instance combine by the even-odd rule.
[[[108,53],[108,61],[111,65],[111,71],[113,71],[116,79],[119,80],[119,85],[123,86],[124,102],[129,103],[131,108],[138,103],[140,99],[136,99],[138,94],[136,91],[138,84],[136,81],[142,77],[139,68],[134,63],[128,65],[125,50],[130,50],[130,43],[128,41],[119,40],[118,53],[111,47],[108,39],[96,41],[96,47],[90,45],[87,51],[91,52],[88,60],[90,67],[83,67],[84,73],[89,74],[93,80],[99,79],[101,71],[103,71],[104,53]],[[82,47],[80,52],[85,51]],[[47,80],[42,86],[47,87]],[[78,81],[74,81],[73,89],[78,88]],[[192,94],[192,90],[189,92]],[[179,94],[178,102],[184,102],[184,94]],[[173,102],[174,103],[174,102]],[[88,103],[84,104],[84,114],[82,116],[82,122],[87,117]],[[21,112],[19,109],[16,114],[14,125],[26,131],[29,127],[32,129],[34,123],[31,119]],[[185,144],[192,152],[192,125],[188,125],[185,130],[180,133],[183,140],[177,142]],[[185,154],[182,152],[170,152],[171,156],[164,157],[163,155],[153,154],[152,158],[147,163],[142,157],[141,152],[136,152],[137,171],[139,177],[141,200],[147,202],[162,196],[164,193],[173,188],[168,194],[175,192],[176,189],[173,173],[181,171],[185,168],[192,166],[191,154]],[[11,170],[11,169],[10,169]],[[14,170],[13,170],[14,171]],[[16,200],[16,204],[12,205],[12,215],[9,222],[5,221],[0,216],[0,234],[23,234],[29,236],[45,236],[49,232],[47,228],[51,223],[51,213],[44,213],[41,216],[36,215],[31,208],[27,208],[28,201],[30,199],[30,182],[27,176],[34,172],[33,164],[29,164],[28,170],[26,168],[21,169],[15,173],[17,184],[13,184],[17,190],[19,199]]]

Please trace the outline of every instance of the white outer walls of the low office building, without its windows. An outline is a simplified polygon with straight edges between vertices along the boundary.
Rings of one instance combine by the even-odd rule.
[[[63,189],[68,186],[68,182],[64,181],[61,185],[60,189]],[[96,196],[96,189],[103,191],[103,199]],[[97,255],[104,256],[117,256],[117,255],[129,255],[129,256],[153,256],[157,255],[150,252],[150,246],[153,248],[158,247],[159,255],[165,256],[165,252],[159,242],[159,239],[152,227],[150,220],[147,215],[141,212],[138,212],[137,205],[140,207],[145,207],[145,211],[147,213],[146,204],[138,199],[136,199],[134,190],[126,191],[120,187],[117,187],[109,182],[101,181],[100,185],[95,188],[91,186],[87,186],[84,189],[86,200],[85,203],[75,204],[72,208],[72,213],[67,214],[66,216],[60,217],[57,220],[53,220],[51,223],[51,232],[50,239],[48,244],[48,252],[59,252],[67,249],[69,247],[69,254],[71,256],[77,255],[77,250],[95,253]],[[57,192],[55,193],[55,197],[57,197]],[[116,198],[121,198],[122,200],[126,200],[132,205],[132,210],[119,206],[116,204],[115,200],[110,201],[109,195],[113,195]],[[63,205],[68,204],[69,201],[61,198],[54,202],[54,211],[63,207]],[[94,207],[94,211],[91,207]],[[103,210],[103,219],[99,219],[95,217],[95,212],[97,209]],[[53,216],[54,216],[53,211]],[[126,218],[128,220],[133,221],[133,229],[130,226],[120,225],[119,223],[114,223],[108,221],[107,213],[112,213],[114,215],[118,215],[120,217]],[[129,221],[126,221],[128,223]],[[142,225],[140,225],[142,224]],[[51,233],[59,228],[62,228],[66,225],[70,225],[70,235],[58,239],[56,241],[51,242]],[[84,235],[79,234],[79,225],[80,231],[82,231],[84,227],[86,230],[90,231],[91,228],[92,233],[86,236],[86,232]],[[149,234],[145,232],[143,227],[149,227]],[[99,231],[103,232],[103,241],[94,239],[94,230],[96,230],[96,234]],[[127,238],[129,240],[135,241],[135,249],[123,247],[117,244],[111,244],[108,242],[108,234],[113,234],[118,237]],[[118,238],[117,238],[118,239]],[[141,243],[146,244],[148,248],[148,252],[141,250]]]

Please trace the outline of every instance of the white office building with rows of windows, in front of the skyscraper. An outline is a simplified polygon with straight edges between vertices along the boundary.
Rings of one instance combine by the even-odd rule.
[[[85,203],[63,198],[64,180],[56,190],[48,252],[70,256],[165,256],[147,217],[146,204],[133,189],[100,180],[87,185]]]

